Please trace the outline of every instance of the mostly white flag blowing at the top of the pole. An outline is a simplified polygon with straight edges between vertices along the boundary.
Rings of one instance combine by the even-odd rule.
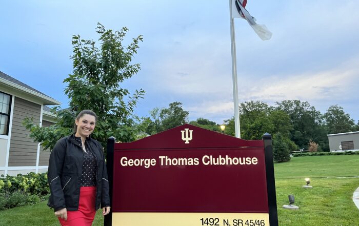
[[[247,0],[232,0],[232,19],[234,17],[246,19],[254,32],[262,40],[269,40],[272,37],[272,32],[265,25],[255,23],[255,18],[245,9],[246,4]]]

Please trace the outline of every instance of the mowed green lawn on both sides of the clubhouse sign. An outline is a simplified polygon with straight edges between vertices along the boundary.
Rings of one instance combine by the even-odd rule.
[[[359,225],[359,210],[352,201],[353,192],[359,187],[359,178],[348,178],[359,176],[359,155],[293,157],[289,162],[276,163],[274,170],[279,225]],[[305,177],[311,178],[313,189],[302,188]],[[282,208],[289,204],[289,194],[295,196],[299,210]],[[0,211],[0,225],[60,224],[44,201]],[[103,225],[101,210],[97,212],[93,225]]]

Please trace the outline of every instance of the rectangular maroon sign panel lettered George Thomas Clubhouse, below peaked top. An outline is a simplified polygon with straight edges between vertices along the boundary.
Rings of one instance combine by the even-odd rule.
[[[117,150],[114,159],[113,212],[268,213],[263,149]]]

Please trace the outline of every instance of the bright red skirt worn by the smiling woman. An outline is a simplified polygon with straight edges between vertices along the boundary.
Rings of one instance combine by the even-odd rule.
[[[96,187],[80,187],[77,211],[67,211],[67,220],[61,219],[62,226],[91,226],[95,218]]]

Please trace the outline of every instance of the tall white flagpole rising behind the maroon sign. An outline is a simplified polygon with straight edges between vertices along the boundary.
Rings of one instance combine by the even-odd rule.
[[[239,110],[239,102],[238,102],[238,85],[237,85],[237,59],[236,59],[236,53],[235,53],[234,20],[232,18],[232,0],[229,0],[229,19],[230,19],[230,24],[231,24],[234,128],[235,128],[235,137],[241,138],[240,110]]]

